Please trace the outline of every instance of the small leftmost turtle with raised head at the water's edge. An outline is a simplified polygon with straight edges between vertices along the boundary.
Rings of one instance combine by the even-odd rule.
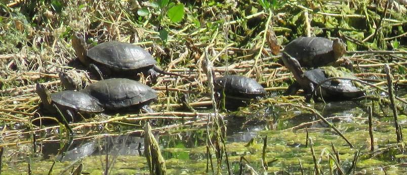
[[[73,90],[50,93],[44,85],[36,84],[35,92],[42,103],[40,108],[45,113],[58,114],[54,104],[64,115],[66,121],[78,121],[76,113],[89,116],[92,113],[103,112],[104,108],[99,100],[87,93]]]

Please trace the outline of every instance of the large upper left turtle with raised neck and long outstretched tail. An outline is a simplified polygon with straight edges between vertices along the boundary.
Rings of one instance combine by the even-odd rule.
[[[79,61],[89,66],[89,69],[97,73],[101,80],[109,76],[132,78],[140,72],[150,75],[152,80],[156,79],[158,73],[183,76],[162,71],[155,66],[157,62],[149,52],[130,43],[108,41],[88,50],[84,36],[74,33],[72,46]]]

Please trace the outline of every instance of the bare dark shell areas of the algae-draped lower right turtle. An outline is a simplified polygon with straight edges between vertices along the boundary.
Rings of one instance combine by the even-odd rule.
[[[339,71],[339,70],[337,70]],[[356,78],[352,74],[346,74],[348,78]],[[323,69],[313,69],[304,73],[305,77],[307,77],[314,85],[321,83],[322,81],[330,78],[325,74],[325,70]],[[352,99],[361,97],[364,95],[364,92],[356,87],[352,81],[350,80],[331,80],[324,82],[320,85],[321,91],[316,90],[318,96],[322,96],[324,98],[329,99]]]

